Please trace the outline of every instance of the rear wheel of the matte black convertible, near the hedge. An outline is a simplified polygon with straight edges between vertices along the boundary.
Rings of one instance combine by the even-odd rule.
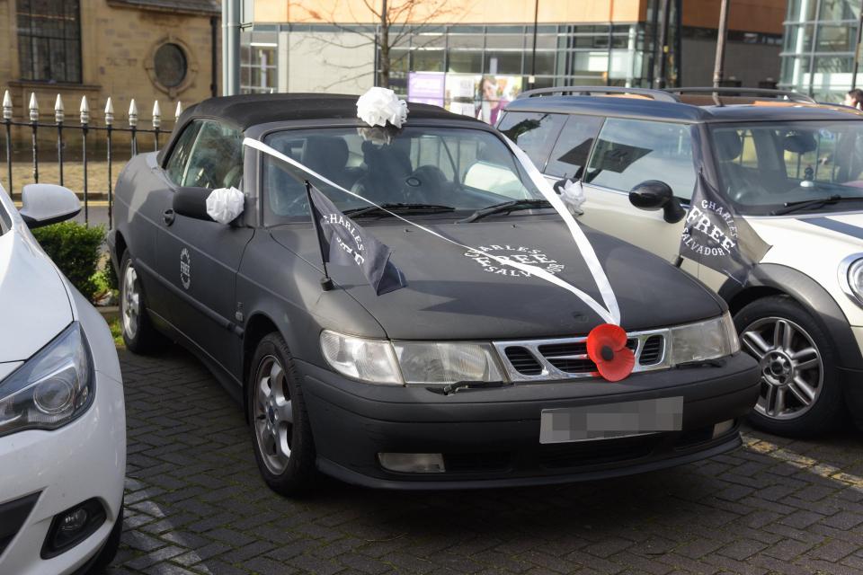
[[[126,348],[135,353],[146,354],[165,347],[167,340],[156,332],[144,298],[144,289],[138,270],[129,251],[120,261],[120,323]]]

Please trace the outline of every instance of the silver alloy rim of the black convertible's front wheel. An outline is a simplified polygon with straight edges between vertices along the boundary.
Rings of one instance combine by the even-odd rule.
[[[279,358],[262,358],[254,376],[254,436],[271,473],[285,471],[290,459],[294,414],[285,369]]]

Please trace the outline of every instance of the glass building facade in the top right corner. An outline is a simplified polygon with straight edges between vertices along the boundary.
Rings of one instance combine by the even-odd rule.
[[[779,87],[819,102],[841,102],[851,88],[860,0],[788,0]],[[858,66],[857,86],[863,84]]]

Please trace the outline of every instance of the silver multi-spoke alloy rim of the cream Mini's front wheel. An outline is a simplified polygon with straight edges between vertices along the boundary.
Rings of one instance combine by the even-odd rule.
[[[775,420],[792,420],[809,411],[823,389],[824,373],[812,336],[786,318],[765,317],[749,324],[740,339],[761,368],[755,411]]]

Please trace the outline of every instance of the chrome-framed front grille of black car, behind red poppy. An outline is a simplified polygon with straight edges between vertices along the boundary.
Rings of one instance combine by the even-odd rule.
[[[664,331],[630,333],[627,348],[636,355],[633,371],[647,371],[665,364]],[[587,338],[500,341],[494,346],[506,358],[512,381],[545,381],[598,376],[587,356]]]

